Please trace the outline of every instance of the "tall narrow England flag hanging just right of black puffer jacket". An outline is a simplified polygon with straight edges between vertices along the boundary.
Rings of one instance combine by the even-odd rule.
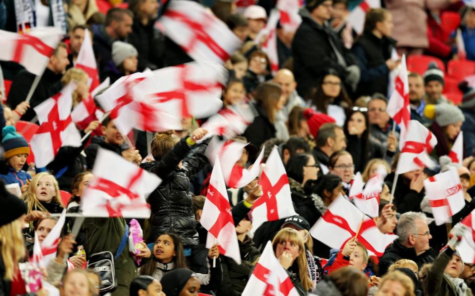
[[[238,236],[218,158],[211,172],[200,223],[208,230],[206,248],[211,248],[213,244],[218,243],[220,254],[241,264]]]

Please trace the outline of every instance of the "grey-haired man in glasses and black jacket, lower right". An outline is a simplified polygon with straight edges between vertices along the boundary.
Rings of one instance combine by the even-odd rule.
[[[380,275],[385,274],[389,266],[400,259],[413,260],[419,268],[434,260],[433,250],[429,247],[432,236],[426,218],[421,212],[411,211],[401,215],[397,225],[399,238],[386,248],[380,258]]]

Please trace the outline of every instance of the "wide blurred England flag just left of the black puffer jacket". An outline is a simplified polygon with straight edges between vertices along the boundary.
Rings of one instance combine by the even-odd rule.
[[[158,176],[104,149],[97,151],[93,174],[81,202],[84,216],[150,217],[146,197],[160,185]]]

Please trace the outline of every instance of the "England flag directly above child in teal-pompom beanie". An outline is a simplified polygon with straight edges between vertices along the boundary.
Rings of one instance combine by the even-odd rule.
[[[81,134],[71,119],[72,93],[75,88],[76,85],[70,83],[34,108],[41,125],[30,145],[38,168],[44,168],[52,162],[59,148],[82,145]]]

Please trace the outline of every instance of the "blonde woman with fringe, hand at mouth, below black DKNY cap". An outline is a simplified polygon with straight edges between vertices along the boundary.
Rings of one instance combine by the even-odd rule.
[[[308,274],[305,245],[300,233],[295,229],[283,228],[272,240],[272,247],[299,295],[307,295],[314,288],[314,284]]]

